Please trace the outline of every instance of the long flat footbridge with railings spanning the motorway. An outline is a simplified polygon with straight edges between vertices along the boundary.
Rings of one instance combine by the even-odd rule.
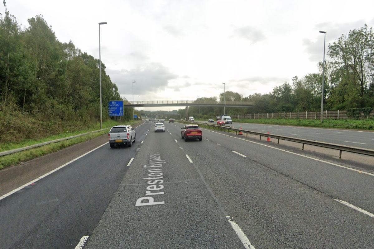
[[[123,107],[157,107],[157,106],[226,106],[252,107],[252,102],[241,101],[211,101],[211,100],[146,100],[123,103]]]

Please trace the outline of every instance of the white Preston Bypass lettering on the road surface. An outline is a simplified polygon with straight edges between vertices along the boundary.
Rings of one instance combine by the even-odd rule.
[[[155,202],[153,197],[148,197],[150,195],[158,196],[159,194],[164,194],[164,192],[159,192],[159,190],[162,190],[164,188],[164,186],[161,184],[163,183],[162,164],[165,163],[166,161],[161,159],[160,154],[154,154],[149,156],[149,164],[143,166],[143,168],[148,169],[148,177],[143,178],[143,180],[148,180],[147,184],[149,184],[149,186],[147,186],[145,196],[137,199],[135,206],[165,204],[164,201]],[[143,200],[145,200],[145,202],[142,202]]]

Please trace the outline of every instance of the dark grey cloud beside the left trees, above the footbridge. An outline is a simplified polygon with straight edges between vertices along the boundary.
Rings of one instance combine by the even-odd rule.
[[[106,71],[111,80],[116,82],[120,94],[125,95],[132,94],[132,81],[136,81],[134,83],[134,94],[146,94],[165,89],[169,80],[178,77],[160,63],[150,63],[130,70],[106,69]]]

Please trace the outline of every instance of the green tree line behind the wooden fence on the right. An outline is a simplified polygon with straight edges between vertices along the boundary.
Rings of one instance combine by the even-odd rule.
[[[322,44],[321,44],[322,47]],[[322,51],[322,49],[321,49]],[[328,44],[325,61],[324,110],[374,107],[374,33],[366,24],[342,34]],[[321,53],[322,56],[322,53]],[[270,93],[254,93],[243,97],[240,93],[226,91],[226,101],[249,101],[253,108],[227,108],[226,114],[320,111],[322,95],[322,62],[318,73],[276,86]],[[199,98],[215,100],[216,97]],[[221,93],[219,100],[224,100]],[[188,109],[189,116],[198,116],[198,107]],[[178,112],[185,117],[184,109]],[[200,107],[200,117],[223,114],[223,108]]]

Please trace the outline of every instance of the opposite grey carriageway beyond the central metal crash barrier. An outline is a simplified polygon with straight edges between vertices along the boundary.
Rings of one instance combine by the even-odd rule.
[[[196,121],[208,123],[208,121]],[[216,122],[210,124],[217,124]],[[330,129],[330,128],[312,128],[287,125],[268,125],[233,122],[227,124],[230,127],[243,130],[255,131],[261,133],[270,132],[270,134],[302,138],[307,140],[321,141],[326,143],[342,144],[347,146],[374,149],[373,131],[353,131],[348,129]]]

